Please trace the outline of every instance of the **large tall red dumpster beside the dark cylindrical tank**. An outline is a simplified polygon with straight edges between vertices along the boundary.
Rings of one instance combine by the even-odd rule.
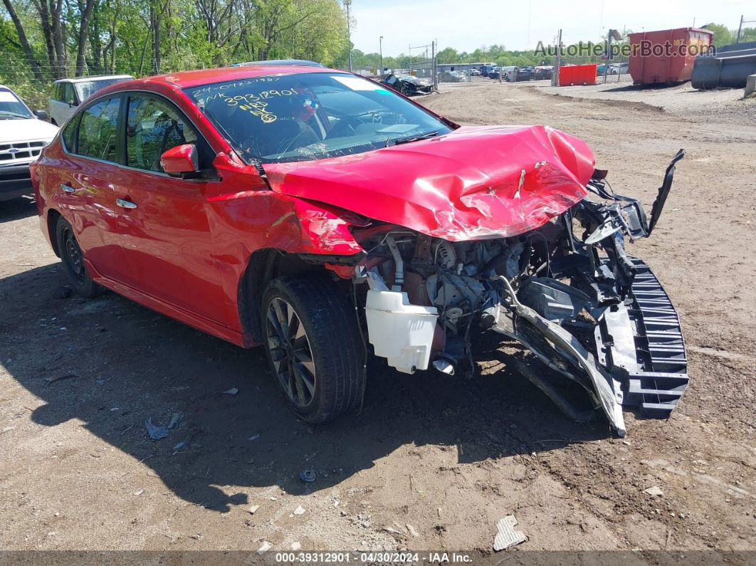
[[[711,45],[712,32],[696,27],[630,34],[630,75],[636,85],[690,80],[696,54]]]

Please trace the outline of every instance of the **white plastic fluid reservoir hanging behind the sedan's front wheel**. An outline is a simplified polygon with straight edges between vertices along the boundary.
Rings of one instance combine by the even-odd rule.
[[[435,307],[411,305],[407,293],[367,292],[367,336],[376,356],[403,373],[427,370],[438,311]]]

